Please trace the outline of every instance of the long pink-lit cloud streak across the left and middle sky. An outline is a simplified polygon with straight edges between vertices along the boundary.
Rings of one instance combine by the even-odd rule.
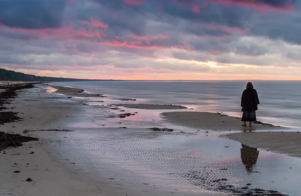
[[[68,25],[59,29],[22,29],[22,28],[10,28],[19,32],[26,32],[29,34],[36,34],[39,38],[50,38],[56,40],[86,40],[93,41],[99,44],[104,44],[108,46],[115,47],[128,47],[128,48],[139,48],[139,49],[167,49],[167,48],[177,48],[192,51],[194,48],[189,45],[156,45],[150,41],[159,39],[169,39],[166,35],[146,35],[146,36],[130,36],[130,40],[120,41],[119,37],[107,37],[105,30],[108,27],[106,24],[99,20],[91,18],[91,21],[78,21],[78,24],[83,25],[80,28],[75,28],[76,23],[69,22]],[[100,31],[99,28],[103,31]],[[132,40],[133,39],[133,40]],[[80,53],[76,46],[68,46],[68,49],[73,49],[75,52]],[[67,49],[61,49],[67,50]],[[84,54],[84,53],[83,53]],[[93,54],[84,54],[90,55]]]

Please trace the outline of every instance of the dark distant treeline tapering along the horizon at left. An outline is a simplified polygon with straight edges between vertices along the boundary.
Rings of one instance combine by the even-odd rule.
[[[0,81],[39,81],[39,82],[71,82],[71,81],[105,81],[105,80],[88,80],[75,78],[55,78],[46,76],[35,76],[21,72],[0,69]]]

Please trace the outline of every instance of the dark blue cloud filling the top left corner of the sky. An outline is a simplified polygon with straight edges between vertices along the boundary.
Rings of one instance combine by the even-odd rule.
[[[24,29],[58,28],[66,0],[1,0],[0,24]]]

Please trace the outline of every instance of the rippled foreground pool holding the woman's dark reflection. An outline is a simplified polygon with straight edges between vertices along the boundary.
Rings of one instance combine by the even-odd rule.
[[[232,140],[145,129],[108,129],[105,133],[98,129],[71,134],[90,160],[105,161],[157,181],[166,179],[211,190],[234,186],[242,192],[252,188],[295,196],[301,192],[300,158]]]

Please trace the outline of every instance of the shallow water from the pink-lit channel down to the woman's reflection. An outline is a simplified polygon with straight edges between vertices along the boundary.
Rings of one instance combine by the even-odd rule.
[[[176,187],[190,190],[196,187],[216,190],[221,185],[233,185],[241,191],[263,188],[300,195],[300,158],[219,138],[220,132],[217,131],[206,133],[205,130],[170,124],[159,115],[166,110],[112,110],[112,106],[108,105],[120,101],[111,100],[113,96],[109,96],[101,98],[104,103],[96,102],[99,98],[66,99],[88,105],[83,106],[85,109],[78,119],[65,125],[76,130],[70,132],[76,146],[85,152],[97,169],[108,176],[118,168],[142,176],[143,181],[147,182],[145,185],[176,184]],[[133,112],[137,112],[137,115],[124,119],[112,117]],[[152,127],[169,127],[175,131],[154,132],[149,130]],[[114,168],[110,170],[104,165]],[[135,178],[131,174],[122,176],[117,172],[116,175],[122,179]],[[214,181],[222,178],[227,180]],[[251,185],[247,186],[249,183]]]

